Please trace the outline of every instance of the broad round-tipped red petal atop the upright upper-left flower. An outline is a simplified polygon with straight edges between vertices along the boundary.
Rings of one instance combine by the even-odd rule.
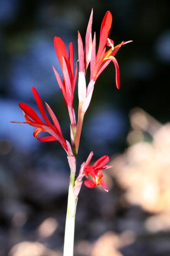
[[[57,37],[57,36],[54,37],[54,47],[56,50],[59,64],[61,66],[61,69],[63,70],[63,57],[65,58],[66,61],[68,61],[68,55],[67,55],[67,50],[65,48],[65,44],[60,37]]]

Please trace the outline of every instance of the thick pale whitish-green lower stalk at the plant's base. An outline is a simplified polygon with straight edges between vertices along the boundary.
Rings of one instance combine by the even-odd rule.
[[[67,204],[67,216],[65,222],[65,236],[64,236],[64,252],[63,256],[73,256],[74,248],[74,229],[75,229],[75,213],[77,199],[73,193],[73,187],[75,183],[75,173],[70,174],[68,204]]]

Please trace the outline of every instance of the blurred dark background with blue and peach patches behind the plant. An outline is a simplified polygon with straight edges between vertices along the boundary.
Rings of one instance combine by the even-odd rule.
[[[99,40],[107,10],[109,38],[133,40],[98,78],[84,118],[78,168],[93,150],[107,154],[106,193],[80,191],[75,256],[170,255],[170,5],[169,1],[0,0],[0,256],[60,256],[63,250],[69,166],[58,142],[39,142],[19,102],[37,110],[31,86],[56,113],[65,139],[69,117],[52,65],[59,36],[84,40],[91,9]],[[89,74],[87,74],[89,76]],[[77,86],[74,109],[77,114]]]

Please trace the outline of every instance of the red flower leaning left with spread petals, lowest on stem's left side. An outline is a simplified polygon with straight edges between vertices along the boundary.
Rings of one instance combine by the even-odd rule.
[[[59,141],[61,143],[61,145],[63,146],[63,148],[66,150],[66,152],[68,152],[67,143],[62,135],[61,127],[59,125],[59,122],[58,122],[56,116],[54,115],[50,106],[48,106],[48,104],[45,102],[48,113],[50,114],[52,121],[54,123],[54,125],[52,125],[50,123],[50,121],[48,120],[48,117],[46,116],[46,113],[45,113],[45,110],[44,110],[44,107],[42,104],[42,100],[41,100],[37,90],[34,87],[32,87],[32,92],[33,92],[35,101],[37,103],[37,106],[39,108],[39,111],[40,111],[44,121],[42,121],[39,118],[39,116],[35,113],[35,111],[32,108],[30,108],[27,104],[21,102],[21,103],[19,103],[19,106],[24,113],[26,122],[12,121],[11,123],[18,123],[18,124],[27,123],[31,126],[37,127],[37,129],[35,129],[35,131],[33,133],[33,136],[36,139],[38,139],[39,141]],[[52,136],[38,138],[38,135],[41,132],[48,132]]]

